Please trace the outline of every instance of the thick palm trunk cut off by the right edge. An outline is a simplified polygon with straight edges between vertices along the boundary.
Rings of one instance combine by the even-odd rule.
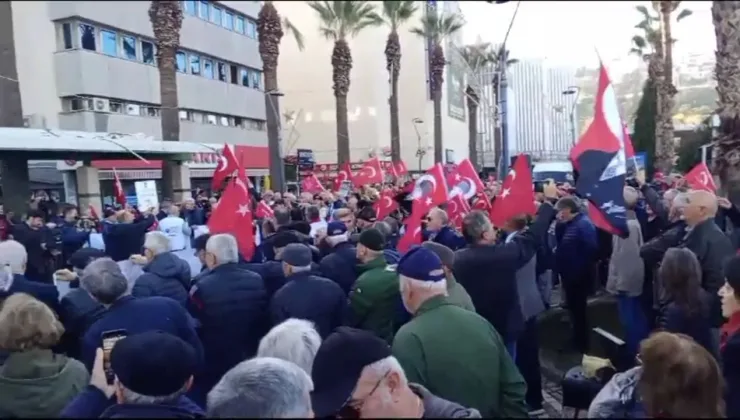
[[[740,198],[740,1],[713,1],[712,21],[717,36],[717,110],[720,117],[717,145],[714,148],[715,173],[721,187],[738,202]]]

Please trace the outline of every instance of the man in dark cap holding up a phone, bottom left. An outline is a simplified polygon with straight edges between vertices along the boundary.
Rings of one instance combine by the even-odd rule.
[[[108,383],[104,350],[97,349],[90,386],[62,411],[62,418],[200,418],[203,410],[185,396],[198,369],[188,343],[161,331],[129,335],[110,350]],[[110,399],[115,404],[110,405]]]

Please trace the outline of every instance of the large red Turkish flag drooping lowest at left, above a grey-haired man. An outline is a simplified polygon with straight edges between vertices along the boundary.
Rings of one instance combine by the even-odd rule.
[[[226,185],[221,200],[213,209],[208,219],[208,230],[211,234],[234,235],[239,252],[249,260],[255,248],[252,211],[249,208],[247,177],[241,165],[238,165],[238,172],[238,176]]]

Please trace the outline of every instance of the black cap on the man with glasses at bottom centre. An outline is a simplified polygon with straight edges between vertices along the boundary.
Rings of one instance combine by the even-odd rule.
[[[311,368],[316,417],[336,414],[349,401],[365,366],[390,356],[388,343],[368,331],[339,327],[326,337]]]

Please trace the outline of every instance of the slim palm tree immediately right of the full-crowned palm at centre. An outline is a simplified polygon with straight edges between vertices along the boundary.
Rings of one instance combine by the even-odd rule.
[[[391,84],[388,105],[391,112],[391,159],[401,160],[401,129],[398,124],[398,76],[401,73],[401,42],[398,28],[416,13],[417,3],[413,0],[384,1],[383,20],[390,28],[385,41],[385,67]]]

